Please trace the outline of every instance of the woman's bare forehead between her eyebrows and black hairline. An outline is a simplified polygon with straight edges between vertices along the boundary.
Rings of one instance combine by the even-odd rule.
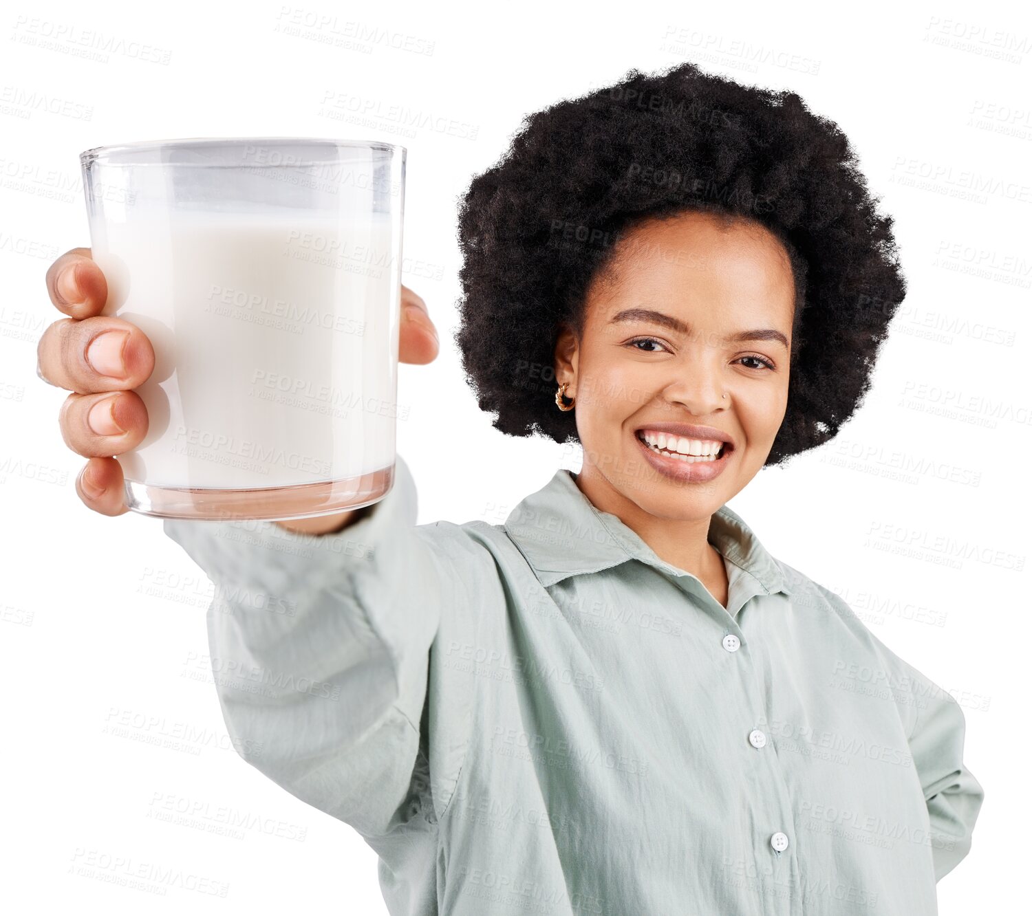
[[[791,325],[795,282],[787,253],[765,227],[690,212],[628,230],[587,299],[589,320],[602,323],[627,304],[647,304],[689,322],[763,317]]]

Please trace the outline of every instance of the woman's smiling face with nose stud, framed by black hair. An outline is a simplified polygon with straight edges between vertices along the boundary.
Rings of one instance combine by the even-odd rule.
[[[565,329],[555,348],[558,383],[576,399],[579,485],[621,517],[637,505],[701,520],[764,466],[784,418],[788,256],[757,224],[689,211],[632,230],[614,268],[588,290],[583,336]],[[730,445],[712,460],[720,438]],[[703,454],[668,457],[657,445]]]

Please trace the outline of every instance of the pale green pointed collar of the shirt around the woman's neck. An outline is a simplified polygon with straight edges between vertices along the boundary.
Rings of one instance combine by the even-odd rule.
[[[526,496],[504,527],[546,588],[569,576],[598,572],[627,560],[696,579],[660,559],[617,516],[598,509],[567,468],[560,467],[544,487]],[[755,580],[759,592],[792,593],[780,565],[727,505],[713,514],[708,539],[743,576]]]

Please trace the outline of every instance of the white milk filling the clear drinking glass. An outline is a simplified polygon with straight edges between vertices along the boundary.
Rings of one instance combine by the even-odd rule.
[[[150,430],[118,456],[127,481],[286,487],[394,464],[389,218],[175,209],[105,229],[93,250],[104,314],[137,325],[156,356],[137,389]]]

